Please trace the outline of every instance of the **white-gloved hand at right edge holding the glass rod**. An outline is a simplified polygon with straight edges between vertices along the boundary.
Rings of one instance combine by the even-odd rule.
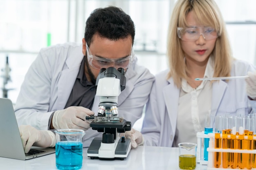
[[[247,75],[249,76],[245,79],[247,95],[256,100],[256,71],[253,73],[248,71]]]

